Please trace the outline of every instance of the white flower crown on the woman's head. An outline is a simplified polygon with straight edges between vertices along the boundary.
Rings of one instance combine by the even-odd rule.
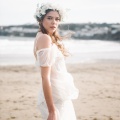
[[[65,15],[64,9],[60,8],[57,5],[53,5],[50,3],[43,3],[43,4],[41,4],[40,7],[39,7],[39,4],[37,4],[37,9],[36,9],[36,12],[34,14],[34,17],[36,19],[39,18],[41,20],[42,16],[46,14],[46,10],[48,10],[48,9],[58,11],[58,13],[60,14],[61,20],[63,20],[64,15]]]

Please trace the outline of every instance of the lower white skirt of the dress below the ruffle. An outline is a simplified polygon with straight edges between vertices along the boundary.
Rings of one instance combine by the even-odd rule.
[[[64,102],[57,101],[55,107],[57,110],[57,120],[77,120],[71,100],[66,100]],[[49,113],[46,103],[41,103],[38,109],[41,112],[42,120],[47,120]]]

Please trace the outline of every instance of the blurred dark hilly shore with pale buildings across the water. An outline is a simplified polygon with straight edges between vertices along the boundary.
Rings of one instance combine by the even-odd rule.
[[[0,36],[35,37],[37,24],[0,26]],[[120,23],[65,23],[59,26],[61,36],[73,33],[73,39],[120,41]]]

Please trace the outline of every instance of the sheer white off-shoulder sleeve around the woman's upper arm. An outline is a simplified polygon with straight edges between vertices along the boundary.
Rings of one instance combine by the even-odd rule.
[[[37,66],[52,66],[55,62],[55,51],[52,48],[43,48],[37,51]]]

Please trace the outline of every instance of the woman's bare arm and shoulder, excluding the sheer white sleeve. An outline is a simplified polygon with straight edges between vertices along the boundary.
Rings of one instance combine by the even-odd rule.
[[[37,48],[43,49],[43,48],[49,48],[49,47],[51,47],[51,38],[47,35],[42,35],[38,39]],[[52,114],[52,116],[53,116],[55,114],[55,106],[54,106],[53,97],[52,97],[50,72],[51,72],[50,66],[47,66],[47,67],[41,66],[43,92],[44,92],[44,96],[45,96],[49,114]],[[50,120],[52,120],[52,119],[50,119]]]

